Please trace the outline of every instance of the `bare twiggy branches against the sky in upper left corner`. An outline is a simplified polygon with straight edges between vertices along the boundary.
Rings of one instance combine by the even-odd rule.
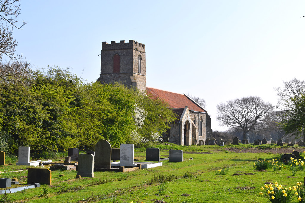
[[[0,60],[2,54],[7,55],[10,59],[21,58],[14,54],[18,42],[13,39],[13,28],[21,29],[26,24],[23,21],[17,25],[19,14],[19,0],[0,0]]]

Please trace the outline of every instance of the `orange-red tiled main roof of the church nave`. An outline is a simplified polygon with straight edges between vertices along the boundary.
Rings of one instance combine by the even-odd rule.
[[[206,110],[204,110],[202,107],[200,107],[198,104],[196,104],[184,94],[168,92],[151,87],[146,88],[146,94],[152,99],[159,98],[167,102],[169,104],[169,108],[184,109],[185,106],[188,106],[189,110],[206,112]]]

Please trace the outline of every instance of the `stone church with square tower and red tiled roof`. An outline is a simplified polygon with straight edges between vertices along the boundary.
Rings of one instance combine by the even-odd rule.
[[[177,145],[202,145],[212,136],[211,118],[198,103],[185,94],[146,87],[145,45],[135,40],[110,44],[102,42],[99,82],[121,82],[145,91],[151,99],[169,104],[177,119],[164,134],[168,142]]]

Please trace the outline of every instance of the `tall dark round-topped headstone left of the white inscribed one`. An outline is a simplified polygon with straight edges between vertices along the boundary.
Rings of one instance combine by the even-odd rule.
[[[107,140],[100,140],[95,145],[95,168],[111,168],[111,145]]]

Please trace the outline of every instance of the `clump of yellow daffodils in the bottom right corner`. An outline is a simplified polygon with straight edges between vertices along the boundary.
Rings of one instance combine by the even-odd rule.
[[[259,194],[266,196],[272,203],[288,203],[296,197],[298,201],[303,202],[304,189],[301,188],[301,185],[301,182],[297,182],[297,186],[287,188],[278,184],[278,182],[275,182],[274,185],[265,184],[260,187]]]

